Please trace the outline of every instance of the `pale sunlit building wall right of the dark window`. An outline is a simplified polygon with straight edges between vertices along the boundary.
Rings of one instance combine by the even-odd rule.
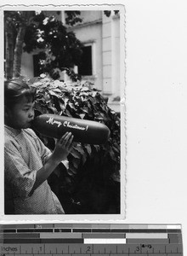
[[[83,44],[94,43],[94,76],[91,80],[109,97],[111,108],[119,112],[120,97],[120,19],[103,11],[81,11],[82,23],[71,27]]]

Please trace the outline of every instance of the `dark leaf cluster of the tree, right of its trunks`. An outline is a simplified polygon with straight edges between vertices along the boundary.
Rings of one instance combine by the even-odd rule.
[[[65,68],[80,64],[82,43],[54,16],[46,17],[42,12],[33,16],[24,42],[28,53],[42,49],[39,53],[41,73],[49,73],[53,79],[59,79],[59,72]]]

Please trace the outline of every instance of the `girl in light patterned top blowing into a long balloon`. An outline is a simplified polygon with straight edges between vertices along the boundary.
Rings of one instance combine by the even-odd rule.
[[[54,152],[30,129],[35,92],[23,79],[4,84],[5,214],[65,213],[47,178],[71,152],[73,136],[65,133]]]

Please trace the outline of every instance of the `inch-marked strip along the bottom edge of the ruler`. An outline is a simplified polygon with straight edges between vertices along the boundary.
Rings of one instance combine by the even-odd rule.
[[[161,244],[22,244],[22,245],[1,245],[1,255],[134,255],[136,256],[171,256],[183,255],[179,245]],[[170,255],[171,254],[171,255]]]

